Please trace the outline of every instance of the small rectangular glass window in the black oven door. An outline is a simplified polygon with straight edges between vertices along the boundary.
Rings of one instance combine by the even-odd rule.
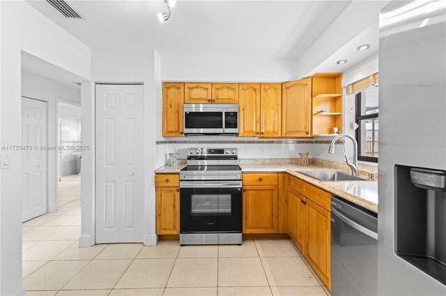
[[[191,214],[230,214],[231,195],[192,195]]]

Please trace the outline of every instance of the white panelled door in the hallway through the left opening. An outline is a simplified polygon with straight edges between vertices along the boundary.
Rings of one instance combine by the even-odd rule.
[[[23,222],[47,213],[46,145],[47,103],[22,97]]]

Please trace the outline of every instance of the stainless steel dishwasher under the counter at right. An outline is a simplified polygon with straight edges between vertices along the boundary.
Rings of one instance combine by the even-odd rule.
[[[378,216],[332,197],[332,295],[378,295]]]

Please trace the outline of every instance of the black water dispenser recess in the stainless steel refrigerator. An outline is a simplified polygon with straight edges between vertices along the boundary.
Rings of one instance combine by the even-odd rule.
[[[395,165],[395,253],[446,285],[446,172]]]

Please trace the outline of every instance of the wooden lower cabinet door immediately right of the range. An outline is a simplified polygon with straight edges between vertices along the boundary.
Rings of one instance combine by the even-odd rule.
[[[277,233],[277,186],[243,188],[243,233]]]

